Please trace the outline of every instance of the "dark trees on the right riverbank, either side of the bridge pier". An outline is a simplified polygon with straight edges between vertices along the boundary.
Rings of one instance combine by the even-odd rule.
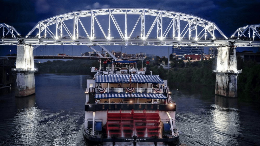
[[[183,85],[213,86],[216,84],[216,75],[212,70],[216,70],[217,59],[202,60],[198,62],[187,62],[174,60],[170,57],[170,70],[158,67],[162,62],[168,62],[167,58],[157,57],[151,61],[150,70],[153,74],[158,74],[160,78],[168,80],[168,84],[178,83]],[[260,94],[260,64],[256,61],[245,60],[237,57],[237,70],[242,70],[238,74],[238,93],[239,94]]]

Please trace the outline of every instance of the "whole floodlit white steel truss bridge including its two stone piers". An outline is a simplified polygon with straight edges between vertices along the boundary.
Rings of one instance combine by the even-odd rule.
[[[100,51],[92,47],[98,45],[115,60],[104,46],[218,47],[215,93],[227,97],[237,97],[236,47],[260,46],[260,24],[240,27],[227,37],[214,22],[206,19],[146,8],[105,8],[64,13],[38,22],[27,35],[18,33],[5,23],[0,23],[0,29],[3,30],[0,45],[17,45],[16,68],[25,69],[34,68],[33,49],[40,45],[85,45],[103,58]],[[16,96],[35,93],[34,75],[29,77],[26,73],[17,72],[16,79],[26,83],[17,85]]]

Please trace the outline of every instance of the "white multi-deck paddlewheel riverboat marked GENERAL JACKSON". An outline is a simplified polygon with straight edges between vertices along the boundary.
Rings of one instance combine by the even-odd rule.
[[[176,103],[167,80],[131,60],[106,60],[87,80],[84,136],[94,142],[174,142]]]

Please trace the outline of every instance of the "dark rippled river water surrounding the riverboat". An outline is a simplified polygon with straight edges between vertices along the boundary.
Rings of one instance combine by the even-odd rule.
[[[0,145],[112,145],[89,143],[83,136],[87,79],[92,77],[36,74],[36,94],[23,98],[15,97],[13,88],[4,89]],[[172,145],[260,145],[259,100],[215,96],[212,87],[176,85],[170,90],[180,130],[179,140]]]

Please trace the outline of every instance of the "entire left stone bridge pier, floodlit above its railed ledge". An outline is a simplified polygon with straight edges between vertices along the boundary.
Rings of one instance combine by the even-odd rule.
[[[15,96],[23,97],[35,94],[33,46],[17,45]]]

